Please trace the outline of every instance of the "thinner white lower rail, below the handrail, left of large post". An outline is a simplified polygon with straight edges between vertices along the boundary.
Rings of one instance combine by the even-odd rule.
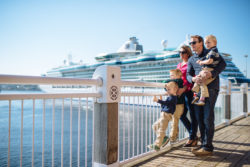
[[[46,93],[46,94],[0,94],[0,100],[23,100],[23,99],[62,99],[101,97],[101,93]]]

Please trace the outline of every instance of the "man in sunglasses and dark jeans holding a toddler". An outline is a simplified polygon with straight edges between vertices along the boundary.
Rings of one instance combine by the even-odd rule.
[[[197,63],[203,60],[208,50],[204,48],[203,38],[199,35],[191,36],[190,43],[194,55],[188,60],[187,80],[190,83],[202,83],[201,77],[198,76],[202,66]],[[219,93],[219,74],[225,69],[226,63],[220,55],[219,64],[213,71],[207,72],[206,78],[215,78],[207,85],[209,97],[205,99],[204,106],[194,106],[195,116],[198,121],[201,133],[201,147],[192,150],[195,155],[212,155],[213,153],[213,136],[214,136],[214,107]]]

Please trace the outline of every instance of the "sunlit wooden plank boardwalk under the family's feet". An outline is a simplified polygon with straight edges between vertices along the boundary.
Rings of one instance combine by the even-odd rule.
[[[250,117],[216,131],[214,154],[196,157],[190,148],[175,147],[155,158],[139,163],[141,167],[250,167]]]

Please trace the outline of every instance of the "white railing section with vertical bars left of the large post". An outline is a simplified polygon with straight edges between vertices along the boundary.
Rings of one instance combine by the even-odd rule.
[[[93,85],[93,86],[99,86],[102,84],[102,81],[100,79],[71,79],[71,78],[52,78],[52,77],[31,77],[31,76],[13,76],[13,75],[0,75],[0,83],[1,84],[53,84],[53,85]],[[84,153],[85,157],[84,160],[82,161],[82,163],[84,163],[84,166],[87,166],[88,164],[88,151],[92,152],[92,148],[91,150],[88,150],[88,141],[91,140],[90,142],[92,143],[92,138],[89,137],[90,134],[88,134],[88,128],[89,126],[91,126],[90,129],[94,130],[92,128],[94,122],[89,121],[89,114],[93,115],[93,112],[89,113],[90,110],[90,105],[91,103],[93,103],[95,98],[101,97],[100,93],[26,93],[26,94],[5,94],[4,92],[0,94],[0,100],[1,101],[8,101],[8,108],[9,108],[9,116],[8,116],[8,161],[7,161],[7,166],[10,165],[18,165],[17,164],[17,157],[18,155],[16,155],[16,150],[12,150],[12,144],[16,145],[14,140],[11,140],[13,137],[11,136],[11,132],[12,130],[12,112],[15,112],[15,110],[21,110],[20,114],[20,153],[19,153],[19,165],[22,166],[27,166],[27,162],[24,162],[23,159],[27,160],[26,157],[24,156],[30,156],[28,155],[27,152],[30,152],[30,150],[25,150],[25,154],[23,154],[24,150],[23,150],[23,145],[24,145],[24,102],[32,100],[32,104],[29,105],[30,108],[32,108],[32,120],[30,119],[26,119],[27,121],[32,121],[32,129],[31,127],[26,127],[27,129],[25,130],[25,132],[27,132],[27,130],[32,130],[32,156],[31,156],[31,164],[29,164],[28,166],[58,166],[58,165],[66,165],[66,166],[72,166],[72,165],[77,165],[80,166],[80,157],[81,154],[80,153]],[[16,101],[20,100],[21,101],[21,108],[16,107]],[[39,101],[39,100],[42,100]],[[52,100],[52,102],[51,102]],[[60,105],[56,105],[56,100],[61,102]],[[39,101],[39,102],[38,102]],[[77,101],[78,105],[77,107],[74,106],[73,101]],[[47,104],[47,103],[48,104]],[[67,103],[65,105],[65,102]],[[15,103],[15,104],[14,104]],[[52,103],[52,104],[51,104]],[[85,104],[83,104],[85,103]],[[12,110],[12,106],[13,104],[15,105],[13,107]],[[42,105],[42,106],[41,106]],[[61,109],[58,109],[58,106],[61,106]],[[50,109],[47,109],[46,107],[50,107]],[[65,109],[67,107],[67,109]],[[92,109],[93,109],[93,104],[92,104]],[[42,111],[41,111],[42,110]],[[61,110],[61,111],[60,111]],[[83,112],[85,111],[85,120],[81,120],[82,117],[81,115],[83,114]],[[38,114],[39,112],[42,112],[42,121],[36,120],[36,114]],[[55,112],[61,112],[60,114],[57,114],[57,116],[59,117],[55,117]],[[65,127],[65,123],[64,121],[65,119],[65,113],[68,113],[67,116],[69,115],[69,133],[68,128]],[[74,116],[74,121],[77,121],[77,129],[72,129],[72,124],[73,124],[73,112],[77,113],[76,116]],[[81,114],[82,113],[82,114]],[[49,115],[49,117],[47,116]],[[18,116],[18,113],[14,114],[15,117]],[[27,117],[27,116],[26,116]],[[77,117],[77,119],[75,119]],[[91,116],[93,117],[93,116]],[[48,121],[46,120],[50,120],[51,121],[51,128],[49,128],[48,130],[46,129],[46,124],[50,124],[48,123]],[[56,155],[55,153],[55,120],[57,120],[57,123],[60,121],[61,122],[61,137],[59,135],[57,135],[57,139],[59,139],[58,137],[60,137],[60,142],[61,142],[61,146],[57,147],[57,152],[60,149],[61,151],[61,160],[57,161],[57,163],[55,164],[55,156],[57,157],[58,160],[58,156],[60,155]],[[68,119],[67,119],[68,120]],[[14,121],[17,121],[17,119],[14,119]],[[84,121],[85,124],[81,125],[81,121]],[[38,125],[36,122],[38,123],[42,123],[42,150],[37,151],[39,152],[38,154],[35,154],[35,148],[37,148],[38,146],[35,146],[35,143],[39,143],[36,140],[39,140],[37,138],[35,138],[35,134],[37,133],[37,131],[40,131],[39,129],[36,128],[36,126],[40,127],[40,125]],[[82,134],[81,132],[81,126],[83,126],[83,132],[84,134]],[[15,126],[14,126],[15,128]],[[67,130],[66,130],[67,129]],[[51,136],[48,134],[49,131],[52,131]],[[57,132],[59,133],[59,128],[57,128]],[[72,133],[73,131],[77,131],[77,163],[73,163],[72,162],[72,156],[73,156],[73,152],[72,152],[72,145],[73,145],[73,139],[72,139]],[[67,133],[67,134],[66,134]],[[93,134],[93,132],[91,132]],[[16,135],[15,133],[13,135]],[[68,136],[67,136],[68,135]],[[4,135],[3,135],[4,136]],[[28,134],[28,136],[30,136],[30,134]],[[46,140],[48,139],[48,136],[51,137],[51,160],[48,160],[48,157],[45,157],[46,152],[48,152],[46,148],[46,144],[48,144],[49,142],[46,142]],[[69,162],[67,164],[64,163],[64,154],[66,152],[65,150],[65,146],[68,146],[68,144],[65,142],[65,137],[67,136],[67,138],[69,138]],[[49,138],[50,138],[49,137]],[[82,139],[82,138],[83,139]],[[27,138],[27,135],[25,135],[25,138]],[[81,147],[81,140],[84,140],[84,146]],[[27,141],[26,141],[27,142]],[[40,143],[39,143],[40,144]],[[76,144],[76,143],[75,143]],[[50,144],[49,144],[50,145]],[[80,148],[84,148],[85,151],[81,151]],[[14,147],[14,149],[16,149],[16,147]],[[11,159],[11,153],[13,155],[13,158]],[[41,153],[41,156],[39,155]],[[3,155],[3,154],[2,154]],[[47,155],[47,154],[46,154]],[[35,157],[35,156],[39,156],[39,157]],[[4,157],[3,157],[4,158]],[[42,159],[41,164],[36,163],[35,164],[35,159]],[[92,155],[91,155],[92,158]],[[29,161],[29,160],[28,160]],[[47,162],[46,162],[47,161]],[[15,164],[13,164],[13,162],[15,162]],[[67,161],[66,161],[67,162]],[[1,163],[4,165],[4,159],[1,159]],[[51,163],[51,164],[50,164]]]

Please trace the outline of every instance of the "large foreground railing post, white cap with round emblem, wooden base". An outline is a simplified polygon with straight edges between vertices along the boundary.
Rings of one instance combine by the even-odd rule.
[[[118,160],[118,108],[120,102],[119,67],[100,66],[93,78],[102,78],[97,91],[102,93],[94,103],[94,154],[93,166],[119,166]]]

